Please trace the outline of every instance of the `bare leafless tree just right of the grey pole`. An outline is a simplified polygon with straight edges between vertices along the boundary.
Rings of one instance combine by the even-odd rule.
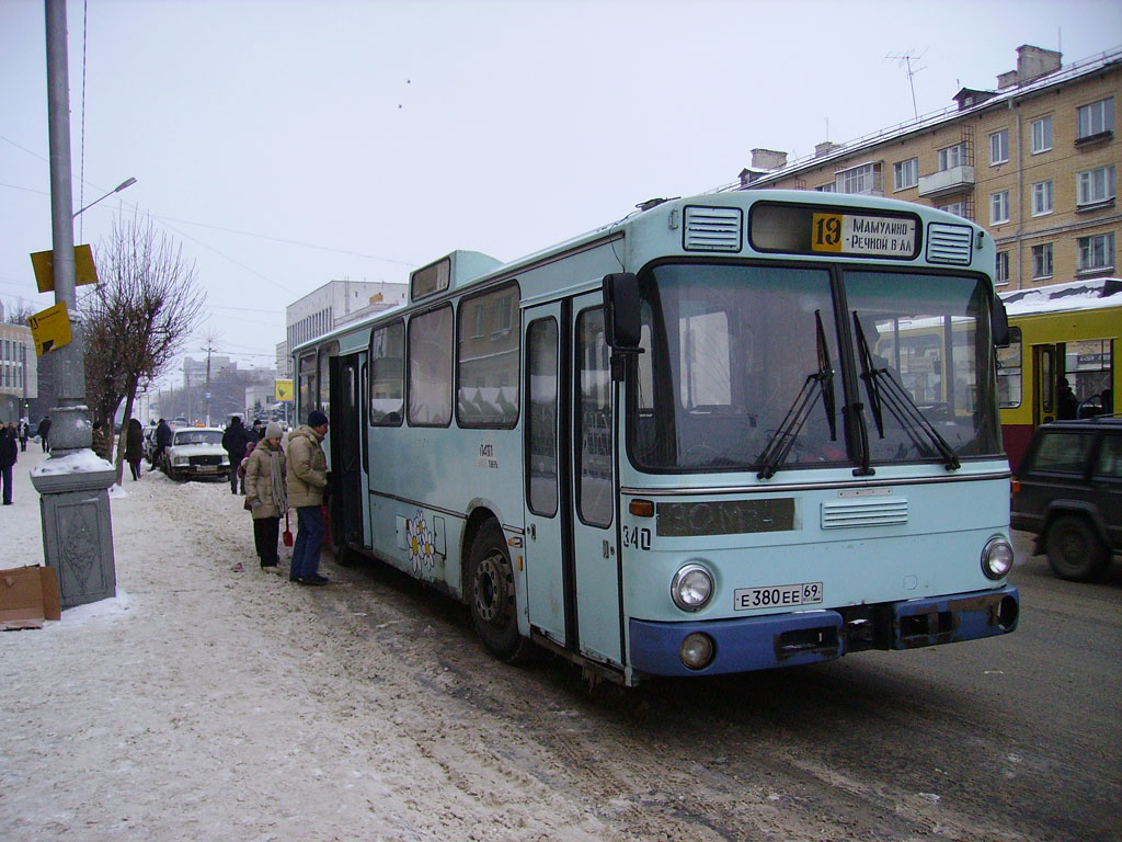
[[[96,265],[100,283],[79,302],[86,397],[112,429],[122,401],[128,424],[138,384],[164,373],[195,329],[206,295],[194,263],[183,259],[183,247],[157,234],[147,216],[118,219],[96,248]],[[126,438],[117,443],[118,483]]]

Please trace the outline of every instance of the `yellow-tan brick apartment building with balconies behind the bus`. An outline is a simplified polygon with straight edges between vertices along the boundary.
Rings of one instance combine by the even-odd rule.
[[[794,162],[753,149],[739,189],[884,195],[966,217],[996,240],[1006,290],[1118,274],[1122,48],[1068,66],[1049,49],[1017,54],[995,91],[964,88],[937,115]]]

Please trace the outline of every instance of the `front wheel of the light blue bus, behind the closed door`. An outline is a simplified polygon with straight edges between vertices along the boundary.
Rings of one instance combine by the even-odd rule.
[[[506,663],[530,656],[533,643],[518,632],[511,553],[495,521],[485,523],[471,543],[467,598],[471,622],[488,652]]]

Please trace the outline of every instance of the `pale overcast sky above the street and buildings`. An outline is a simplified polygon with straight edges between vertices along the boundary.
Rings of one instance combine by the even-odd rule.
[[[50,248],[44,26],[42,1],[0,0],[0,300],[36,310],[54,303],[28,258]],[[917,56],[923,115],[995,88],[1022,44],[1065,64],[1122,45],[1122,3],[88,0],[68,28],[75,208],[137,179],[75,242],[150,214],[208,293],[184,351],[213,336],[263,366],[285,305],[330,280],[514,259],[732,183],[754,147],[911,120],[890,56]]]

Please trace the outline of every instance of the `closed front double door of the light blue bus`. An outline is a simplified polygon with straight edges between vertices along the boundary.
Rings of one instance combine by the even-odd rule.
[[[526,602],[567,650],[623,662],[615,406],[599,292],[525,312]]]

